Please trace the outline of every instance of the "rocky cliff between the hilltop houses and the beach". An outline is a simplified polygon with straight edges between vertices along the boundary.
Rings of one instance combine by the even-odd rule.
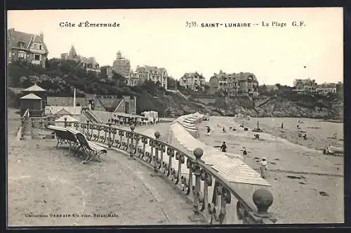
[[[143,98],[146,99],[145,97]],[[150,102],[158,103],[166,117],[176,117],[192,112],[203,112],[214,116],[234,116],[248,114],[258,117],[307,117],[320,119],[343,119],[343,102],[324,98],[298,97],[293,100],[279,96],[249,98],[220,98],[205,104],[180,95],[168,93],[158,98],[149,98]],[[140,102],[141,104],[141,102]],[[144,105],[145,106],[145,105]],[[156,109],[156,108],[155,108]]]

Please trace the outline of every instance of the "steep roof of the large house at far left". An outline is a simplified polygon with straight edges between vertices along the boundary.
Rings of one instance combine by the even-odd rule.
[[[18,32],[15,31],[15,29],[8,29],[8,46],[11,48],[18,48],[18,42],[22,42],[25,44],[23,50],[29,51],[30,46],[33,43],[39,43],[43,46],[45,53],[48,53],[48,48],[46,47],[46,44],[44,43],[43,39],[41,39],[41,36],[38,34],[29,34],[27,32]]]

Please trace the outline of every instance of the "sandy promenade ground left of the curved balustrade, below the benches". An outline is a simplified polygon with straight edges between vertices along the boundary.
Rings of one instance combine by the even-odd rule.
[[[100,163],[80,164],[67,148],[55,148],[56,140],[16,141],[8,135],[8,144],[11,226],[194,224],[189,219],[191,202],[166,180],[152,177],[152,168],[125,154],[110,150]],[[48,218],[30,218],[27,213]]]

